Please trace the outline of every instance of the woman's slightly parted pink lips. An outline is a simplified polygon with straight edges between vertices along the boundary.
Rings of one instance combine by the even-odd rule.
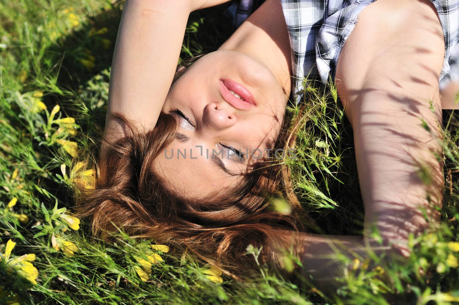
[[[253,98],[252,93],[247,90],[244,86],[239,83],[236,83],[232,79],[220,79],[220,93],[222,94],[223,98],[226,102],[228,102],[231,106],[235,107],[236,109],[246,110],[252,107],[255,107],[257,104],[255,103],[255,99]],[[229,90],[234,91],[239,96],[241,96],[244,101],[240,98],[235,97]]]

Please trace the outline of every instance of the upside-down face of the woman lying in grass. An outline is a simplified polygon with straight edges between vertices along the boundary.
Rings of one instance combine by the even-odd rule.
[[[180,127],[155,171],[195,198],[238,186],[257,159],[272,153],[286,100],[278,79],[252,57],[234,51],[201,57],[164,102],[162,111]]]

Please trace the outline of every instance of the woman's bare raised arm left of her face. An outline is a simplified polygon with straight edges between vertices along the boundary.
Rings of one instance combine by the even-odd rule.
[[[110,118],[114,112],[139,126],[155,126],[174,77],[190,12],[226,1],[126,1],[113,55],[105,140],[125,136],[123,126]]]

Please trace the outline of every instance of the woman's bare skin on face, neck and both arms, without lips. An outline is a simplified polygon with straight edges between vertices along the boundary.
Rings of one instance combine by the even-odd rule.
[[[187,158],[163,155],[154,169],[185,198],[240,186],[252,164],[224,158],[225,172],[196,146],[204,152],[225,149],[222,143],[241,150],[271,147],[290,95],[291,50],[279,0],[266,0],[217,52],[196,62],[170,88],[190,11],[223,2],[129,0],[113,56],[104,139],[111,143],[129,135],[111,113],[151,129],[161,111],[179,109],[190,123],[173,113],[180,130],[169,148],[186,149]],[[432,223],[437,222],[439,213],[432,211],[441,206],[443,180],[435,133],[444,51],[442,26],[429,0],[378,0],[360,13],[339,56],[335,80],[354,130],[367,229],[363,236],[280,232],[298,242],[308,277],[331,287],[340,271],[335,250],[349,249],[349,259],[355,253],[365,257],[364,248],[373,241],[368,229],[376,227],[384,242],[375,244],[375,254],[408,255],[409,234],[428,229],[420,210],[428,210]],[[219,90],[222,78],[250,90],[256,107],[241,110],[226,102]],[[420,115],[431,132],[420,128]],[[190,158],[190,149],[196,159]],[[104,153],[102,147],[102,159]],[[431,171],[430,185],[420,181],[418,161]]]

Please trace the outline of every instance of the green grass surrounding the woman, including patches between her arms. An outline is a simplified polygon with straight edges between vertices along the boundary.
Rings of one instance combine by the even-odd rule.
[[[19,265],[0,262],[0,304],[427,304],[459,301],[458,240],[459,118],[444,113],[445,199],[439,229],[413,239],[411,257],[384,264],[384,258],[348,260],[349,272],[335,293],[322,294],[298,274],[293,280],[264,265],[250,281],[206,277],[208,265],[171,249],[156,252],[147,282],[135,272],[139,255],[151,254],[151,240],[120,233],[106,244],[89,236],[84,220],[72,230],[62,208],[72,209],[68,189],[73,141],[80,155],[97,150],[104,128],[112,49],[122,3],[100,0],[0,1],[0,251],[9,239],[12,257],[35,254],[39,274],[32,284]],[[181,58],[212,51],[229,35],[222,8],[190,17]],[[41,95],[43,93],[43,96]],[[43,104],[46,110],[43,107]],[[359,234],[363,224],[353,132],[336,100],[336,90],[308,88],[297,160],[286,160],[300,202],[314,219],[312,231]],[[53,123],[54,119],[75,119]],[[50,124],[51,123],[51,124]],[[59,127],[62,130],[59,130]],[[73,128],[76,134],[72,134]],[[67,142],[68,145],[68,142]],[[75,145],[75,144],[72,144]],[[61,171],[66,164],[66,175]],[[16,205],[8,207],[11,199]],[[25,219],[27,215],[28,219]],[[74,254],[53,248],[53,234],[74,243]],[[72,249],[72,248],[70,248]],[[142,254],[143,253],[143,254]],[[134,256],[137,255],[137,259]],[[247,255],[256,256],[256,249]],[[456,259],[455,259],[456,258]],[[292,261],[292,264],[297,262]],[[369,267],[371,266],[371,267]],[[376,266],[376,267],[375,267]],[[10,302],[10,303],[7,303]],[[432,303],[429,303],[432,304]]]

